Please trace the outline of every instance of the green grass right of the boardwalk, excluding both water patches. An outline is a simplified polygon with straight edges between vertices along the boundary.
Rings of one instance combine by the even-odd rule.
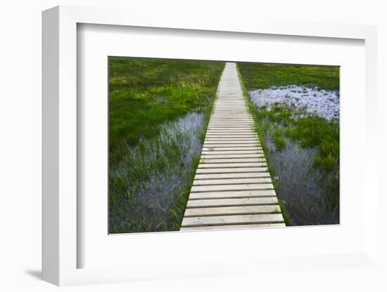
[[[339,161],[337,120],[328,121],[289,105],[274,105],[271,109],[267,106],[258,108],[250,100],[248,90],[297,85],[338,91],[338,67],[239,63],[238,69],[243,93],[253,114],[255,128],[262,140],[265,153],[284,151],[287,141],[294,141],[300,147],[317,149],[313,161],[314,167],[326,174],[334,173],[338,169]],[[275,145],[275,150],[267,145],[267,138]],[[267,156],[267,165],[274,178],[276,173],[269,156]],[[334,178],[329,180],[324,200],[329,208],[337,208],[338,175],[329,175],[329,177]],[[273,180],[273,183],[277,191],[279,182]],[[286,225],[293,225],[284,203],[279,201]]]

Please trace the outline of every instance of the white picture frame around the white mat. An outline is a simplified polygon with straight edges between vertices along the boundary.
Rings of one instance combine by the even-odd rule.
[[[223,22],[198,21],[195,18],[146,19],[134,11],[106,8],[58,6],[43,13],[43,279],[56,285],[96,284],[138,279],[170,279],[179,277],[217,276],[260,270],[260,264],[246,259],[236,265],[224,262],[191,263],[186,269],[163,269],[155,266],[77,268],[77,24],[159,27],[164,29],[196,29],[212,32],[235,32],[308,36],[318,38],[360,39],[365,46],[366,124],[364,149],[364,245],[357,253],[310,255],[312,265],[329,267],[334,260],[345,258],[348,265],[376,263],[378,192],[374,170],[377,169],[374,124],[376,121],[376,27],[303,22]],[[173,25],[171,25],[173,24]],[[372,150],[372,151],[371,151]],[[78,214],[79,215],[79,214]],[[200,237],[201,234],[195,234]],[[305,258],[295,262],[302,265]],[[244,268],[241,269],[241,263]],[[334,268],[335,265],[332,265]]]

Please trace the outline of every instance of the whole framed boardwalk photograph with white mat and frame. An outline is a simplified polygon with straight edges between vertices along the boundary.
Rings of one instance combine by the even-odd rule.
[[[43,279],[373,265],[375,82],[371,26],[44,11]]]

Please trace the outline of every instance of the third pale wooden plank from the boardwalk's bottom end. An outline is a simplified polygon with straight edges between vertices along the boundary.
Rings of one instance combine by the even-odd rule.
[[[273,214],[280,213],[278,205],[264,206],[229,206],[229,207],[209,207],[209,208],[188,208],[184,217],[202,217],[214,215],[247,215],[247,214]]]

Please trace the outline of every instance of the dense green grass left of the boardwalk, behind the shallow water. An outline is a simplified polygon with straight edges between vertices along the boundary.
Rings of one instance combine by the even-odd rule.
[[[159,134],[160,124],[208,105],[224,62],[109,57],[110,159]]]

